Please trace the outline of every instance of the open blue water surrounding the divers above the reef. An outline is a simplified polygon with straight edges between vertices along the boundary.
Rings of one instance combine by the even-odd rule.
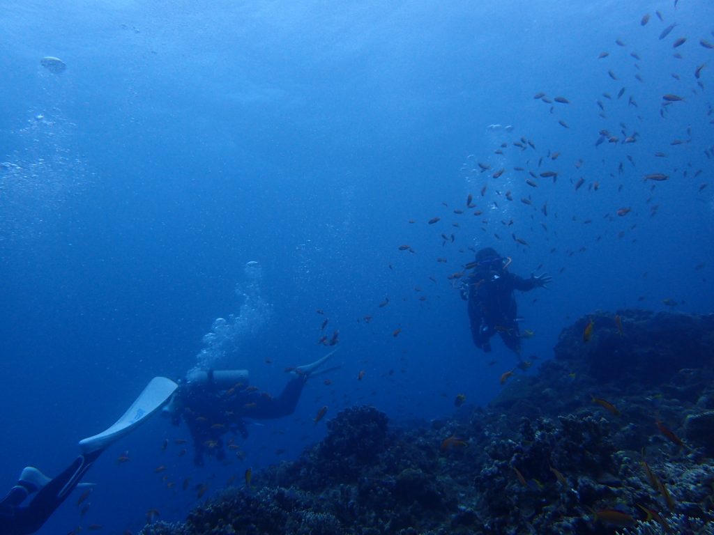
[[[202,350],[278,392],[283,368],[326,353],[316,343],[326,318],[340,339],[332,384],[311,380],[293,416],[251,425],[243,462],[194,468],[174,444],[161,449],[186,428],[155,417],[91,469],[84,519],[78,492],[41,533],[136,532],[154,508],[183,519],[196,504],[186,477],[210,493],[246,467],[295,458],[323,436],[311,421],[323,405],[328,418],[368,403],[431,419],[451,414],[459,392],[488,402],[516,361],[500,340],[492,355],[473,347],[448,279],[473,259],[469,247],[496,247],[520,275],[553,275],[548,290],[518,295],[535,332],[527,358],[550,357],[560,329],[594,310],[665,310],[672,299],[711,312],[714,51],[699,44],[714,42],[711,21],[705,0],[6,0],[0,484],[26,464],[59,472],[151,377],[185,376]],[[570,104],[534,99],[540,91]],[[662,117],[665,93],[685,101]],[[595,146],[603,128],[620,141]],[[521,137],[536,149],[514,147]],[[533,188],[516,166],[558,180]],[[469,193],[482,215],[466,208]],[[206,345],[218,317],[230,343]],[[116,464],[126,451],[131,462]]]

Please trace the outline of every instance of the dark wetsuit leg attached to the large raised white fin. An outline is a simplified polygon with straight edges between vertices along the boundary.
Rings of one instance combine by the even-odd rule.
[[[18,509],[16,519],[19,532],[30,534],[40,529],[103,451],[100,449],[77,457],[64,472],[43,486],[28,506]]]

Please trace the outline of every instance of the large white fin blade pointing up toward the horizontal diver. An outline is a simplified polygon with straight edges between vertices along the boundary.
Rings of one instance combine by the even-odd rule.
[[[108,447],[109,444],[124,437],[125,434],[129,433],[141,422],[144,422],[151,414],[154,414],[177,388],[178,384],[171,381],[171,379],[154,377],[146,385],[144,392],[139,394],[139,397],[136,398],[136,401],[131,404],[129,410],[121,418],[116,420],[106,431],[95,434],[94,437],[80,440],[79,449],[83,454],[88,454]]]

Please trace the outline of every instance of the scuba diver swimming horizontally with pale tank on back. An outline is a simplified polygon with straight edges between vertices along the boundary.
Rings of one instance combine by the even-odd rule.
[[[308,365],[288,368],[291,378],[278,397],[248,384],[248,370],[193,370],[181,382],[164,412],[174,425],[186,422],[193,438],[193,464],[203,466],[203,455],[219,461],[226,458],[223,435],[238,433],[246,439],[245,418],[276,419],[295,411],[309,377],[336,370],[316,372],[335,351]],[[233,446],[232,439],[228,447]]]

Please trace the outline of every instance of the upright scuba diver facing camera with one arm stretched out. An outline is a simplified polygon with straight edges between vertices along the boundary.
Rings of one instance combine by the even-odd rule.
[[[468,300],[473,343],[484,352],[491,351],[491,337],[498,332],[501,340],[520,356],[521,332],[513,290],[528,292],[545,287],[553,277],[547,273],[524,279],[508,271],[511,258],[503,258],[487,247],[476,253],[473,272],[461,287],[461,298]]]

